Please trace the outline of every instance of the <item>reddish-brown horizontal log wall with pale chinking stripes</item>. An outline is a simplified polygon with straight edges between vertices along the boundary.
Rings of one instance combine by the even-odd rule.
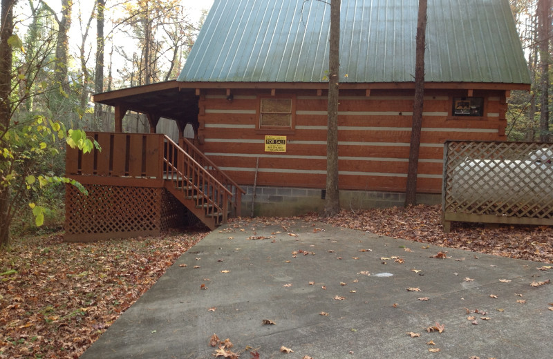
[[[259,129],[258,96],[270,90],[202,90],[198,116],[200,149],[238,184],[254,182],[259,157],[259,186],[326,186],[326,93],[277,90],[294,95],[292,130]],[[340,188],[404,191],[409,159],[413,93],[401,90],[341,91],[339,105]],[[429,90],[424,97],[419,193],[440,193],[443,144],[447,139],[505,139],[505,93],[474,90],[485,97],[484,116],[451,117],[453,97],[467,90]],[[265,135],[286,135],[285,153],[264,151]]]

